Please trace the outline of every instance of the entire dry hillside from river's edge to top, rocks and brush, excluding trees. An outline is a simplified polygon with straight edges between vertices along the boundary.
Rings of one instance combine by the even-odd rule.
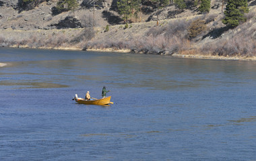
[[[170,4],[157,10],[143,5],[137,19],[141,22],[135,23],[136,19],[131,17],[127,26],[112,0],[100,1],[95,8],[79,1],[75,12],[55,15],[56,3],[42,1],[24,10],[19,9],[16,0],[0,0],[0,46],[116,50],[193,58],[255,59],[256,56],[255,1],[249,1],[247,21],[234,29],[222,23],[224,14],[219,1],[211,1],[207,15],[199,13],[197,7],[181,10]],[[89,4],[94,4],[93,0]],[[202,25],[203,30],[191,36],[192,24]]]

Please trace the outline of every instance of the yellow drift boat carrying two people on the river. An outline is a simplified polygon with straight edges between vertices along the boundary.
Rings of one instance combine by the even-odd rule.
[[[86,99],[78,98],[77,95],[75,95],[73,99],[77,103],[85,105],[108,105],[109,103],[113,104],[113,102],[110,102],[111,96],[105,97],[104,99],[91,99],[87,101]]]

